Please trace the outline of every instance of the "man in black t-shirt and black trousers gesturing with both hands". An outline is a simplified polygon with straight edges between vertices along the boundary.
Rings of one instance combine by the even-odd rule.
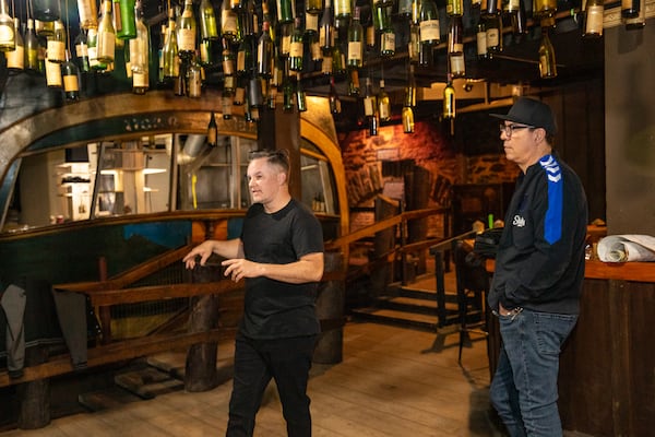
[[[182,261],[203,265],[212,253],[227,258],[225,275],[246,280],[243,319],[236,339],[235,376],[227,436],[252,436],[271,378],[289,436],[311,436],[307,382],[320,331],[314,312],[323,276],[320,222],[288,189],[286,151],[255,152],[248,165],[252,206],[240,238],[206,240]]]

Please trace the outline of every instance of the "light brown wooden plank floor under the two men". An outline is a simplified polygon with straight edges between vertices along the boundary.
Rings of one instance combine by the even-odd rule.
[[[473,341],[472,347],[464,349],[460,366],[457,335],[448,335],[441,351],[434,350],[436,339],[431,332],[348,322],[343,362],[312,368],[313,435],[501,436],[488,418],[486,342]],[[57,418],[45,428],[9,430],[0,437],[224,435],[233,354],[231,342],[219,345],[219,366],[227,377],[214,390],[191,393],[178,388],[151,400]],[[177,359],[183,368],[183,354],[159,358]],[[273,387],[266,391],[254,435],[286,436]]]

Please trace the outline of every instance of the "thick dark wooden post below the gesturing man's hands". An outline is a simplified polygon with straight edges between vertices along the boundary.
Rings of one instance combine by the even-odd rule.
[[[221,263],[196,264],[192,272],[192,282],[217,282],[223,277]],[[189,331],[202,332],[215,328],[218,322],[218,298],[216,295],[191,297]],[[206,391],[216,387],[217,343],[193,344],[187,354],[184,389],[191,392]]]

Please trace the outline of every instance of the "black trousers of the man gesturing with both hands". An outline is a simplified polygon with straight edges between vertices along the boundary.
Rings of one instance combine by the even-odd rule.
[[[228,437],[252,436],[271,378],[277,385],[289,437],[311,436],[307,382],[317,336],[252,340],[237,335]]]

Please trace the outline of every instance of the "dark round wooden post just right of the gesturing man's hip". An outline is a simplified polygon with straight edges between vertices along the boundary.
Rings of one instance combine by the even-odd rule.
[[[325,252],[326,273],[342,272],[343,262],[341,252]],[[336,364],[343,359],[345,294],[344,279],[324,281],[319,285],[315,311],[322,332],[314,350],[314,363]]]

